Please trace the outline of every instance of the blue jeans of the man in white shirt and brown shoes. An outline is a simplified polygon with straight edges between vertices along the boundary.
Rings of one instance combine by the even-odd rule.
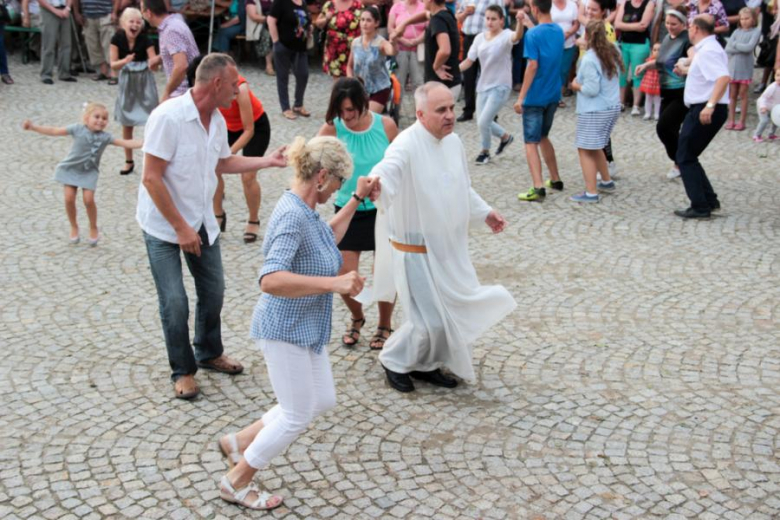
[[[194,374],[198,371],[197,363],[217,358],[223,351],[220,314],[225,295],[225,278],[222,273],[219,238],[209,246],[206,228],[201,227],[198,234],[202,240],[200,256],[184,253],[198,295],[193,354],[187,325],[190,316],[189,302],[184,290],[179,244],[165,242],[144,233],[149,266],[157,287],[168,362],[173,371],[171,378],[174,381],[183,375]]]

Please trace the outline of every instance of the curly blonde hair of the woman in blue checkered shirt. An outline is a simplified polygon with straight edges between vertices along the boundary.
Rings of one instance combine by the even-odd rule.
[[[344,179],[352,177],[352,157],[344,143],[332,136],[314,137],[308,142],[298,136],[285,155],[295,178],[301,182],[311,181],[321,169]]]

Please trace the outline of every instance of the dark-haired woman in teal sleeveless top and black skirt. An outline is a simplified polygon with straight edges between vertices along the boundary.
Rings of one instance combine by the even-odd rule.
[[[318,135],[330,135],[343,142],[355,165],[354,174],[336,194],[336,212],[352,197],[356,197],[357,180],[371,172],[382,160],[385,150],[398,135],[393,120],[369,110],[369,98],[365,88],[355,78],[341,78],[333,84],[333,91],[325,115],[326,123]],[[345,273],[357,271],[362,251],[374,251],[374,227],[377,209],[368,199],[360,205],[349,224],[339,249],[344,259],[341,270]],[[360,330],[365,325],[363,306],[349,295],[342,295],[344,303],[352,313],[352,323],[341,338],[345,346],[357,345]],[[392,302],[379,302],[379,324],[369,343],[370,348],[380,350],[392,332]]]

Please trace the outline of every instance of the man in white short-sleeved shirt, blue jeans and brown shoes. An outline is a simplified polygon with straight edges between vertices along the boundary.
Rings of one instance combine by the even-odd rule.
[[[212,205],[216,173],[286,164],[281,149],[267,157],[231,155],[225,120],[217,108],[228,108],[237,94],[238,70],[233,59],[209,54],[198,67],[195,86],[160,105],[146,124],[136,219],[146,241],[174,392],[180,399],[199,393],[194,378],[198,367],[228,374],[243,370],[223,354],[222,347],[225,281]],[[198,295],[194,354],[180,251]]]

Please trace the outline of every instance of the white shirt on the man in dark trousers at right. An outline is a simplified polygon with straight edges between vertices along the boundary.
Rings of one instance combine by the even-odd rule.
[[[714,35],[704,38],[694,45],[694,49],[696,53],[693,55],[688,77],[685,80],[683,100],[687,107],[708,102],[715,88],[715,82],[729,75],[728,55]],[[718,104],[728,104],[728,102],[729,89],[726,87],[726,92]]]

